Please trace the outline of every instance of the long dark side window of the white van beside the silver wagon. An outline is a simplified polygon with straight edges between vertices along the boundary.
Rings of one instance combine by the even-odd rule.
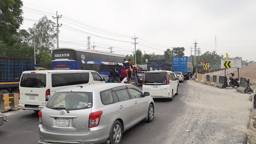
[[[52,87],[87,84],[89,72],[52,74]]]

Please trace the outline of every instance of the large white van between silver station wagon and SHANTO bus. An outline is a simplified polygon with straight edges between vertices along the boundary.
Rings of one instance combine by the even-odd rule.
[[[105,83],[105,78],[94,70],[24,71],[20,78],[18,109],[39,111],[56,90],[96,83]]]

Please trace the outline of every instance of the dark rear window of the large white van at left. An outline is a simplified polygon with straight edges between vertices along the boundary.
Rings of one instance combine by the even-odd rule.
[[[44,88],[46,87],[46,74],[22,74],[20,86],[25,88]]]

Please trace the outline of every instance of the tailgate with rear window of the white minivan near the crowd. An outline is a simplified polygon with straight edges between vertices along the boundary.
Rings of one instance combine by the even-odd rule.
[[[166,96],[168,94],[168,81],[166,72],[145,73],[145,91],[151,96]]]

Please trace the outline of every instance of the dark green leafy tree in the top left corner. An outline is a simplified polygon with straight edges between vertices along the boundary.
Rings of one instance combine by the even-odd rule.
[[[0,42],[13,46],[13,35],[22,24],[21,0],[0,0]]]

